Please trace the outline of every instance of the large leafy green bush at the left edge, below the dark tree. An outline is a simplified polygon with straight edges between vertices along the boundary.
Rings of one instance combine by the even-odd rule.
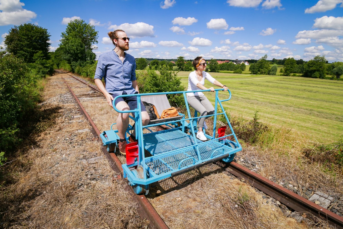
[[[36,79],[22,59],[0,51],[0,152],[21,141],[21,126],[39,100]]]

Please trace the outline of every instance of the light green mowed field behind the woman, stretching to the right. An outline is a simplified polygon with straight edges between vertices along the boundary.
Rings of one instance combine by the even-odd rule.
[[[226,112],[247,120],[258,112],[258,120],[291,129],[320,143],[343,138],[343,82],[286,76],[256,76],[210,73],[232,93],[224,102]],[[189,72],[179,72],[187,88]],[[211,83],[205,80],[205,87]],[[214,86],[214,88],[218,88]],[[222,94],[221,98],[225,98]],[[212,93],[213,95],[214,93]],[[214,102],[211,92],[205,94]]]

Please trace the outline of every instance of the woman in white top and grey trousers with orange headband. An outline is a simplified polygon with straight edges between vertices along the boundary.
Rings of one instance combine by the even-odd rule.
[[[193,66],[196,69],[189,73],[188,76],[188,89],[187,91],[196,91],[196,90],[208,90],[214,91],[214,88],[206,88],[204,86],[205,79],[210,81],[212,84],[221,87],[224,91],[227,91],[226,85],[221,84],[217,80],[215,80],[209,73],[205,72],[206,70],[206,61],[201,56],[196,57],[193,60]],[[206,141],[207,138],[205,137],[202,128],[204,127],[205,119],[208,117],[202,117],[206,115],[214,114],[214,107],[211,102],[206,98],[206,96],[202,92],[188,92],[187,93],[187,102],[191,107],[194,108],[199,114],[200,118],[198,119],[198,133],[197,138],[201,141]]]

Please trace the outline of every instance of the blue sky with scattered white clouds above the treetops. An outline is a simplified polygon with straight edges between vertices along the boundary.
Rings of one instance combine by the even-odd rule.
[[[97,56],[122,29],[136,58],[343,61],[343,0],[0,0],[0,45],[14,25],[33,23],[55,50],[73,19],[95,26]]]

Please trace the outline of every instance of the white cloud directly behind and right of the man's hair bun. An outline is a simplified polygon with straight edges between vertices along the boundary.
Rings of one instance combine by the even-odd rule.
[[[121,29],[126,32],[129,37],[154,37],[154,26],[144,22],[137,22],[135,24],[124,23],[121,25],[111,25],[109,30]]]

